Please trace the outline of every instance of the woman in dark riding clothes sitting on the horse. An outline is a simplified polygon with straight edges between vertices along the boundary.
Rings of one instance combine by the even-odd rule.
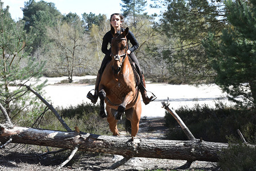
[[[125,30],[123,27],[121,27],[122,22],[123,22],[123,16],[121,14],[114,13],[111,15],[110,25],[111,25],[111,27],[115,28],[116,32],[118,32],[118,31],[123,32]],[[91,92],[88,92],[88,94],[87,94],[88,99],[90,99],[92,101],[92,103],[94,103],[94,104],[97,102],[97,98],[98,98],[99,83],[100,83],[101,75],[103,74],[105,66],[107,66],[107,63],[109,61],[111,61],[111,56],[110,56],[111,48],[108,49],[108,43],[111,44],[112,38],[113,38],[113,36],[111,34],[111,31],[108,31],[103,37],[101,51],[105,54],[105,57],[101,62],[100,70],[97,74],[97,79],[96,79],[96,83],[95,83],[95,93],[94,93],[94,95],[92,95]],[[130,41],[132,43],[132,47],[128,48],[127,54],[132,59],[132,61],[136,63],[136,68],[137,68],[137,70],[140,74],[140,78],[141,78],[139,89],[141,92],[141,96],[143,98],[143,102],[147,105],[150,101],[155,100],[156,96],[151,96],[150,98],[148,97],[147,91],[145,90],[145,79],[144,79],[143,72],[140,69],[140,64],[136,58],[136,55],[133,53],[133,51],[135,51],[139,47],[139,43],[137,42],[135,36],[133,35],[133,33],[131,31],[129,31],[126,38],[128,41]]]

